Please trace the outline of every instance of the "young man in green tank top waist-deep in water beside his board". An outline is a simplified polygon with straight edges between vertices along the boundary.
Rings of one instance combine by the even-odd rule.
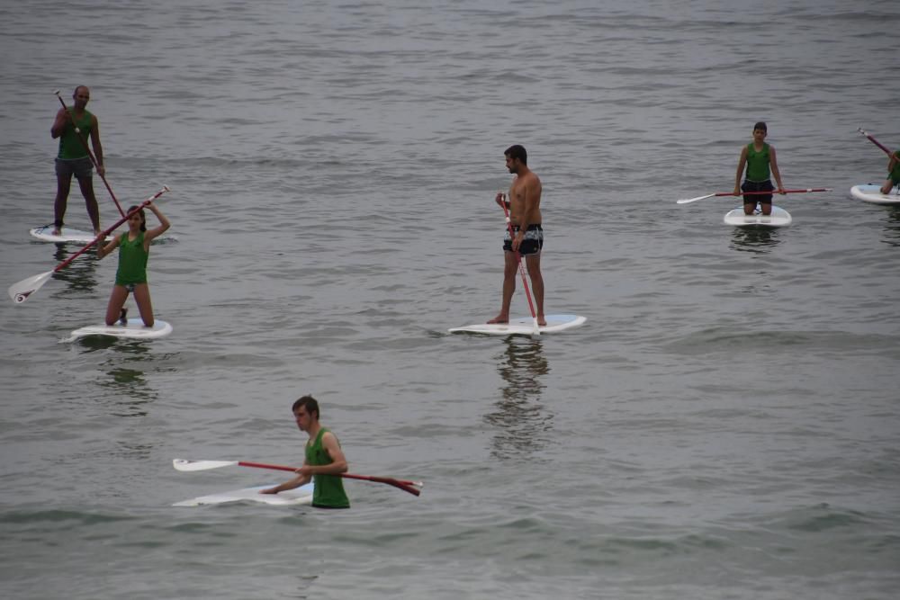
[[[338,477],[338,474],[347,472],[347,459],[340,449],[338,437],[319,423],[319,402],[311,396],[303,396],[293,403],[291,410],[297,427],[310,435],[303,466],[296,470],[297,477],[259,493],[277,494],[299,488],[312,480],[312,506],[349,508],[350,500],[344,492],[343,480]]]

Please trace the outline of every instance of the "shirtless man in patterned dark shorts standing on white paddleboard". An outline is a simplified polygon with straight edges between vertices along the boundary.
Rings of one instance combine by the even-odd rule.
[[[488,321],[489,324],[509,323],[509,303],[516,291],[516,271],[518,256],[525,258],[531,290],[537,303],[537,323],[546,325],[544,318],[544,277],[541,275],[541,249],[544,247],[544,229],[541,227],[541,180],[528,168],[528,154],[525,148],[510,146],[503,153],[509,173],[516,178],[509,184],[507,194],[498,192],[494,200],[500,206],[509,208],[509,228],[503,237],[503,304],[500,314]]]

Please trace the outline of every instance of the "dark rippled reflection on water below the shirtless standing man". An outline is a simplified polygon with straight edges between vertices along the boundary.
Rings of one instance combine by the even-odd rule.
[[[497,428],[491,454],[512,458],[537,452],[550,439],[553,415],[541,403],[544,384],[541,376],[550,372],[540,339],[509,336],[498,359],[498,371],[505,385],[500,390],[496,410],[484,421]]]

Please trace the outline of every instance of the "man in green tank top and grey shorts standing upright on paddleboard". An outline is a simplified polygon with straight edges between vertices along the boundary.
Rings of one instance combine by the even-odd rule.
[[[91,139],[94,147],[94,157],[97,159],[97,172],[105,175],[103,166],[103,147],[100,145],[100,123],[91,112],[85,108],[91,99],[91,91],[85,85],[78,85],[72,94],[75,104],[72,110],[60,108],[56,121],[50,128],[53,139],[59,139],[59,152],[56,158],[57,195],[53,202],[53,235],[58,236],[62,231],[63,219],[66,217],[66,205],[68,191],[72,185],[72,175],[78,180],[81,194],[85,197],[87,214],[94,225],[94,235],[100,233],[100,208],[97,206],[97,198],[94,195],[94,164],[88,157],[85,143],[78,139],[79,135]],[[75,128],[81,130],[79,134]]]

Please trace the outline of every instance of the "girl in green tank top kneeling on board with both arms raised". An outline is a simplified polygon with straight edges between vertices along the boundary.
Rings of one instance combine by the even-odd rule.
[[[169,228],[169,222],[157,209],[156,204],[150,202],[147,208],[157,216],[159,225],[148,230],[144,210],[137,210],[138,208],[132,206],[127,212],[130,215],[127,233],[120,233],[105,245],[104,236],[97,245],[98,258],[103,258],[115,250],[116,246],[119,247],[119,268],[115,273],[115,285],[112,287],[110,302],[106,306],[106,325],[114,325],[117,320],[122,325],[128,325],[127,309],[123,309],[122,306],[128,299],[128,294],[133,293],[144,325],[153,327],[153,305],[150,303],[150,288],[147,284],[147,259],[150,242]],[[134,214],[131,214],[132,212]]]

